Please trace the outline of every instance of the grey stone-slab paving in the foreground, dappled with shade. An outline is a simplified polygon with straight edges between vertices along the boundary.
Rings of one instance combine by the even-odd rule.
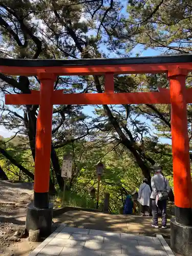
[[[168,256],[155,237],[76,228],[61,224],[30,256]]]

